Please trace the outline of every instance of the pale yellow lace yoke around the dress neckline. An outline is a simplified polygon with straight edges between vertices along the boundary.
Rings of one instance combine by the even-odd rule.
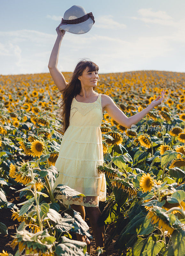
[[[88,104],[87,107],[85,107],[85,105],[83,104]],[[71,103],[71,107],[73,108],[77,108],[79,110],[79,112],[85,116],[87,113],[89,113],[92,109],[94,108],[99,108],[99,109],[102,109],[102,102],[101,102],[101,95],[99,94],[98,95],[98,98],[95,102],[79,102],[75,99],[75,97],[73,98],[72,100],[72,103]],[[103,116],[103,113],[102,113],[102,116]]]

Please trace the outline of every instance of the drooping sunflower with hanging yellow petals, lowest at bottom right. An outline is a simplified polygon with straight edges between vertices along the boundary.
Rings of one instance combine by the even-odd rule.
[[[154,206],[153,209],[158,209],[158,206]],[[162,230],[166,230],[168,235],[172,235],[174,229],[169,226],[169,221],[166,220],[166,218],[163,218],[163,220],[160,218],[162,216],[157,216],[156,212],[153,211],[153,209],[149,210],[149,213],[146,215],[146,218],[150,220],[151,224],[156,224],[158,222],[159,228]],[[161,214],[162,215],[162,214]],[[165,216],[166,217],[166,216]]]

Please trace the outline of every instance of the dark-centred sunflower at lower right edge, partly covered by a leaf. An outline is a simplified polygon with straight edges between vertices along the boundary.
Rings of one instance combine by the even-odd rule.
[[[171,208],[173,207],[179,207],[180,209],[183,208],[183,211],[185,211],[185,203],[183,201],[181,201],[181,205],[179,203],[173,203],[173,204],[170,204],[168,203],[168,201],[166,200],[167,199],[167,196],[172,196],[174,191],[172,190],[169,190],[169,191],[161,191],[161,196],[160,196],[160,201],[162,202],[163,200],[165,200],[165,204],[162,206],[163,209],[165,209],[166,211],[170,210]],[[182,208],[181,208],[182,206]],[[177,210],[174,210],[172,213],[177,213],[179,211]]]

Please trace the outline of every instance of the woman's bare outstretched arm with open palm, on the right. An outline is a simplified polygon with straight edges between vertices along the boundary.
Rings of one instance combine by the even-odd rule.
[[[143,119],[144,116],[146,116],[150,112],[152,108],[162,103],[165,92],[166,91],[163,90],[161,92],[161,98],[160,96],[158,96],[156,100],[153,100],[147,108],[143,109],[141,112],[135,114],[134,116],[127,117],[123,113],[123,111],[116,106],[114,101],[108,95],[106,95],[107,104],[105,106],[105,110],[107,111],[109,116],[111,116],[117,123],[130,129],[132,124],[137,124],[141,119]]]

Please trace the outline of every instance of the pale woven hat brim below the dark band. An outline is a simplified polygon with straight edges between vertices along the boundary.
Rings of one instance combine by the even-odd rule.
[[[63,29],[72,34],[85,34],[92,28],[92,25],[93,25],[93,20],[89,18],[88,20],[85,20],[78,24],[61,25],[59,29],[60,30]]]

